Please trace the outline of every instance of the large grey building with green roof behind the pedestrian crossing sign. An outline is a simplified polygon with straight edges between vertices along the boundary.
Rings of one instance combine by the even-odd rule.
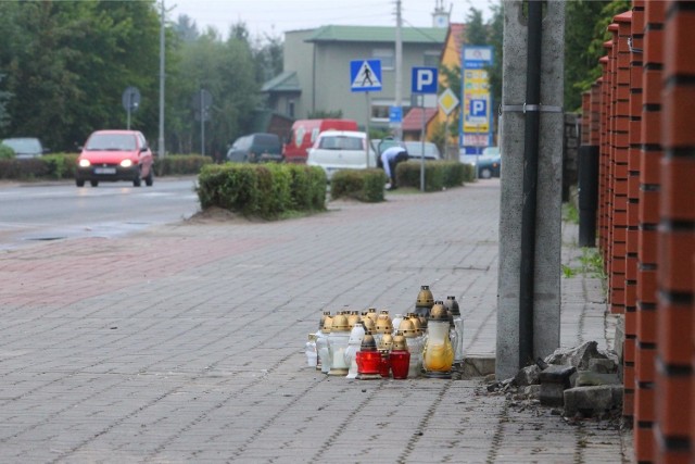
[[[410,70],[439,66],[446,27],[403,27],[403,114],[410,103]],[[380,91],[351,90],[350,62],[380,60]],[[389,108],[395,103],[395,27],[323,26],[285,35],[283,72],[268,80],[263,91],[270,109],[293,118],[317,112],[340,112],[371,127],[389,126]],[[368,108],[369,106],[369,108]]]

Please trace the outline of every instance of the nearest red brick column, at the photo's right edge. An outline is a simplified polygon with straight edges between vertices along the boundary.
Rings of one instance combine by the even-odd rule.
[[[649,2],[652,3],[652,2]],[[662,2],[654,2],[662,3]],[[664,25],[658,231],[657,442],[659,462],[692,463],[695,255],[695,4],[668,1]]]

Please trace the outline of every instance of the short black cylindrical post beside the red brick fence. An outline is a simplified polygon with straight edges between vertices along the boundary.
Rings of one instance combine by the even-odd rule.
[[[598,209],[598,146],[579,147],[579,246],[596,247],[596,210]]]

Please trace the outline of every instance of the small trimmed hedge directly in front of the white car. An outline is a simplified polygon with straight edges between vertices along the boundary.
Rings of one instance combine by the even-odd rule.
[[[353,198],[367,203],[383,201],[387,180],[382,170],[338,171],[330,180],[330,198]]]

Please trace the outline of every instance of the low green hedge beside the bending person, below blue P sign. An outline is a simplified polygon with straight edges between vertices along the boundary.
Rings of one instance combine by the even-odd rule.
[[[439,191],[443,188],[460,187],[472,181],[475,172],[471,166],[457,161],[426,161],[425,191]],[[420,188],[420,161],[399,163],[395,170],[399,187]]]

